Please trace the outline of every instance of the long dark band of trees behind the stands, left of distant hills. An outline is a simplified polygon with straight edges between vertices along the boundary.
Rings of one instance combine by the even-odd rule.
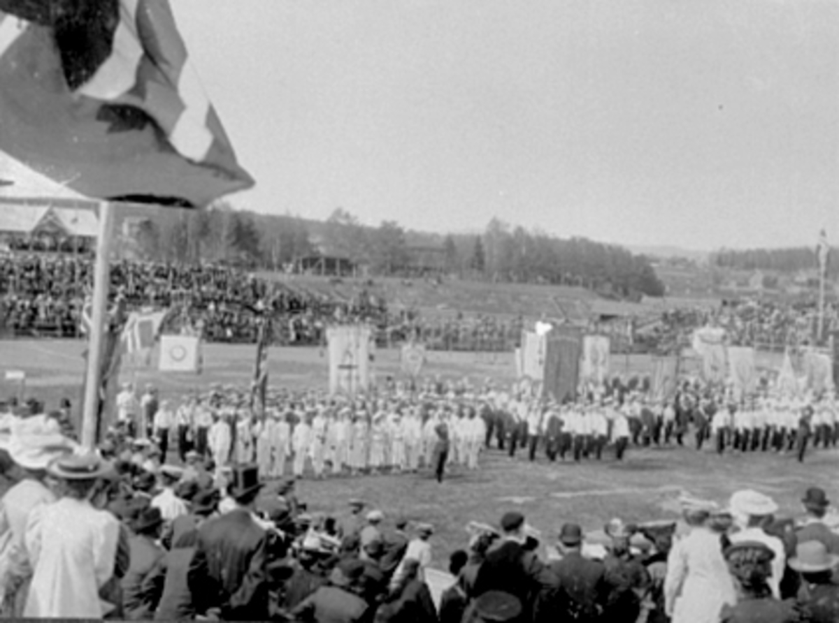
[[[365,226],[341,208],[326,221],[260,215],[220,204],[211,210],[157,210],[134,218],[122,251],[163,262],[228,262],[289,269],[321,253],[345,257],[375,275],[447,273],[506,283],[581,286],[605,294],[660,296],[664,286],[649,260],[623,247],[562,239],[493,219],[482,233],[406,231],[395,221]]]

